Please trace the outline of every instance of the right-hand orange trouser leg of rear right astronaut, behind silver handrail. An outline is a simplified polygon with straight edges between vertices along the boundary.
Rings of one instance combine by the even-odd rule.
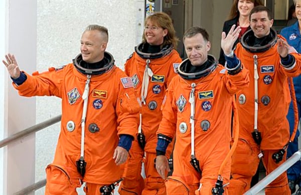
[[[264,150],[264,156],[262,158],[263,165],[266,169],[266,174],[272,172],[275,168],[280,166],[286,159],[286,152],[282,158],[282,161],[279,163],[275,163],[272,159],[272,155],[274,152],[278,152],[279,150]],[[280,174],[275,180],[273,180],[269,185],[265,188],[265,194],[267,195],[288,195],[290,194],[290,189],[288,186],[286,172]]]

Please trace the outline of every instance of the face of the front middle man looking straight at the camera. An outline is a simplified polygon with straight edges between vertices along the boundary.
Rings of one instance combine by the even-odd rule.
[[[205,41],[202,34],[198,33],[193,37],[185,38],[185,51],[193,66],[201,66],[207,61],[210,42]]]

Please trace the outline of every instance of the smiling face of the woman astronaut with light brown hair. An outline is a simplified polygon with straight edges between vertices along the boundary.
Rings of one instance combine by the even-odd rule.
[[[167,35],[168,30],[159,27],[158,25],[152,23],[152,21],[147,21],[144,27],[145,40],[149,45],[161,45],[164,42],[164,37]]]

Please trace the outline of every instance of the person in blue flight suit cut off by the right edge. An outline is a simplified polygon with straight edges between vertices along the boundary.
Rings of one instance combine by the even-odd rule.
[[[293,25],[286,27],[281,30],[280,35],[282,35],[286,40],[287,43],[294,47],[294,49],[301,53],[301,0],[294,0],[295,5],[295,14],[297,17],[297,22]],[[297,106],[298,106],[298,118],[300,118],[301,113],[301,75],[298,77],[293,78],[293,84],[297,99]],[[287,114],[287,120],[289,122],[289,131],[290,134],[293,131],[294,126],[294,112],[292,102],[290,102],[289,110]],[[289,143],[287,148],[287,158],[289,158],[294,152],[298,151],[298,136],[300,132],[297,131],[296,136],[293,142]],[[299,185],[299,189],[297,190],[296,194],[301,195],[301,161],[296,162],[287,170],[287,177],[288,177],[288,184],[293,193],[296,190],[296,184]]]

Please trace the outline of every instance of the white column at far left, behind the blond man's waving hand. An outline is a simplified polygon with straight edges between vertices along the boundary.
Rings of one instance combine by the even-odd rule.
[[[1,2],[1,14],[5,17],[0,23],[1,58],[4,53],[16,56],[21,70],[31,73],[36,69],[37,48],[37,1],[36,0],[6,0]],[[5,13],[5,15],[4,15]],[[3,19],[1,18],[1,19]],[[2,63],[1,63],[2,65]],[[25,128],[36,124],[36,99],[20,97],[12,87],[12,81],[4,70],[0,69],[4,88],[0,88],[1,129],[4,137],[8,137]],[[29,135],[17,140],[4,148],[3,153],[3,187],[0,193],[14,194],[35,182],[35,135]],[[1,173],[1,172],[0,172]]]

